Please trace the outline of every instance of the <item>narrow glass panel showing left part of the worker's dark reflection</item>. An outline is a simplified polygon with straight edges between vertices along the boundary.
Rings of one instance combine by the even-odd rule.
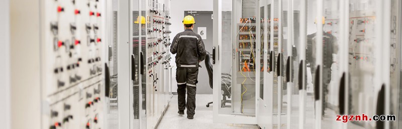
[[[320,17],[321,18],[321,17]],[[305,128],[314,128],[315,125],[315,84],[316,76],[316,36],[317,36],[317,0],[307,0],[307,44],[306,44],[306,92],[305,97],[306,113],[305,113]]]

